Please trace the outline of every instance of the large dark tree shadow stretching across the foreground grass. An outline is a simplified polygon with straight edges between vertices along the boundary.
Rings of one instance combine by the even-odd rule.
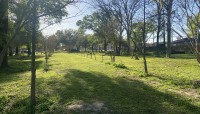
[[[38,80],[38,86],[44,79],[40,80]],[[125,77],[111,78],[99,72],[69,69],[66,70],[64,79],[52,77],[47,83],[52,91],[49,94],[58,94],[60,97],[59,108],[51,110],[51,113],[67,113],[66,107],[75,101],[86,103],[102,101],[109,109],[107,113],[200,112],[199,107],[178,95],[157,91],[138,80]],[[90,111],[79,113],[90,113]]]

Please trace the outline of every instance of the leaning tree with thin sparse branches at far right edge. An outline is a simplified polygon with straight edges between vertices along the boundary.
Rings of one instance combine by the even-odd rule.
[[[182,39],[185,36],[187,37],[189,42],[185,42],[185,44],[196,57],[198,64],[200,64],[199,39],[197,38],[197,32],[199,31],[197,28],[200,28],[200,1],[179,0],[178,2],[179,11],[176,14],[178,30],[173,29],[173,31]]]

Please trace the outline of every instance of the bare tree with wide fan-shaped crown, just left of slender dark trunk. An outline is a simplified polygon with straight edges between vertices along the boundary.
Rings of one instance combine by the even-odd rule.
[[[133,30],[133,22],[136,12],[141,8],[140,0],[97,0],[96,3],[100,9],[111,11],[121,26],[126,30],[127,36],[127,52],[131,53],[131,36]],[[121,29],[123,30],[123,29]]]

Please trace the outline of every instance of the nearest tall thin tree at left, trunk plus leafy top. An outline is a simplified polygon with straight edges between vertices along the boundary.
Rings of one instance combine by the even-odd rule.
[[[35,41],[37,33],[37,22],[39,17],[48,17],[49,22],[60,22],[63,16],[67,15],[64,8],[73,3],[74,0],[51,0],[51,1],[36,1],[32,4],[32,62],[31,62],[31,108],[32,113],[35,113],[35,82],[36,82],[36,68],[35,68]],[[37,7],[39,6],[39,7]]]

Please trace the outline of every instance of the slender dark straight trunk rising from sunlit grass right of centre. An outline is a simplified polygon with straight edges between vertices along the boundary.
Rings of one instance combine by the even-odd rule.
[[[143,62],[144,62],[144,71],[146,74],[148,74],[148,69],[147,69],[147,62],[146,62],[146,15],[145,15],[145,0],[144,0],[144,28],[143,28]]]

